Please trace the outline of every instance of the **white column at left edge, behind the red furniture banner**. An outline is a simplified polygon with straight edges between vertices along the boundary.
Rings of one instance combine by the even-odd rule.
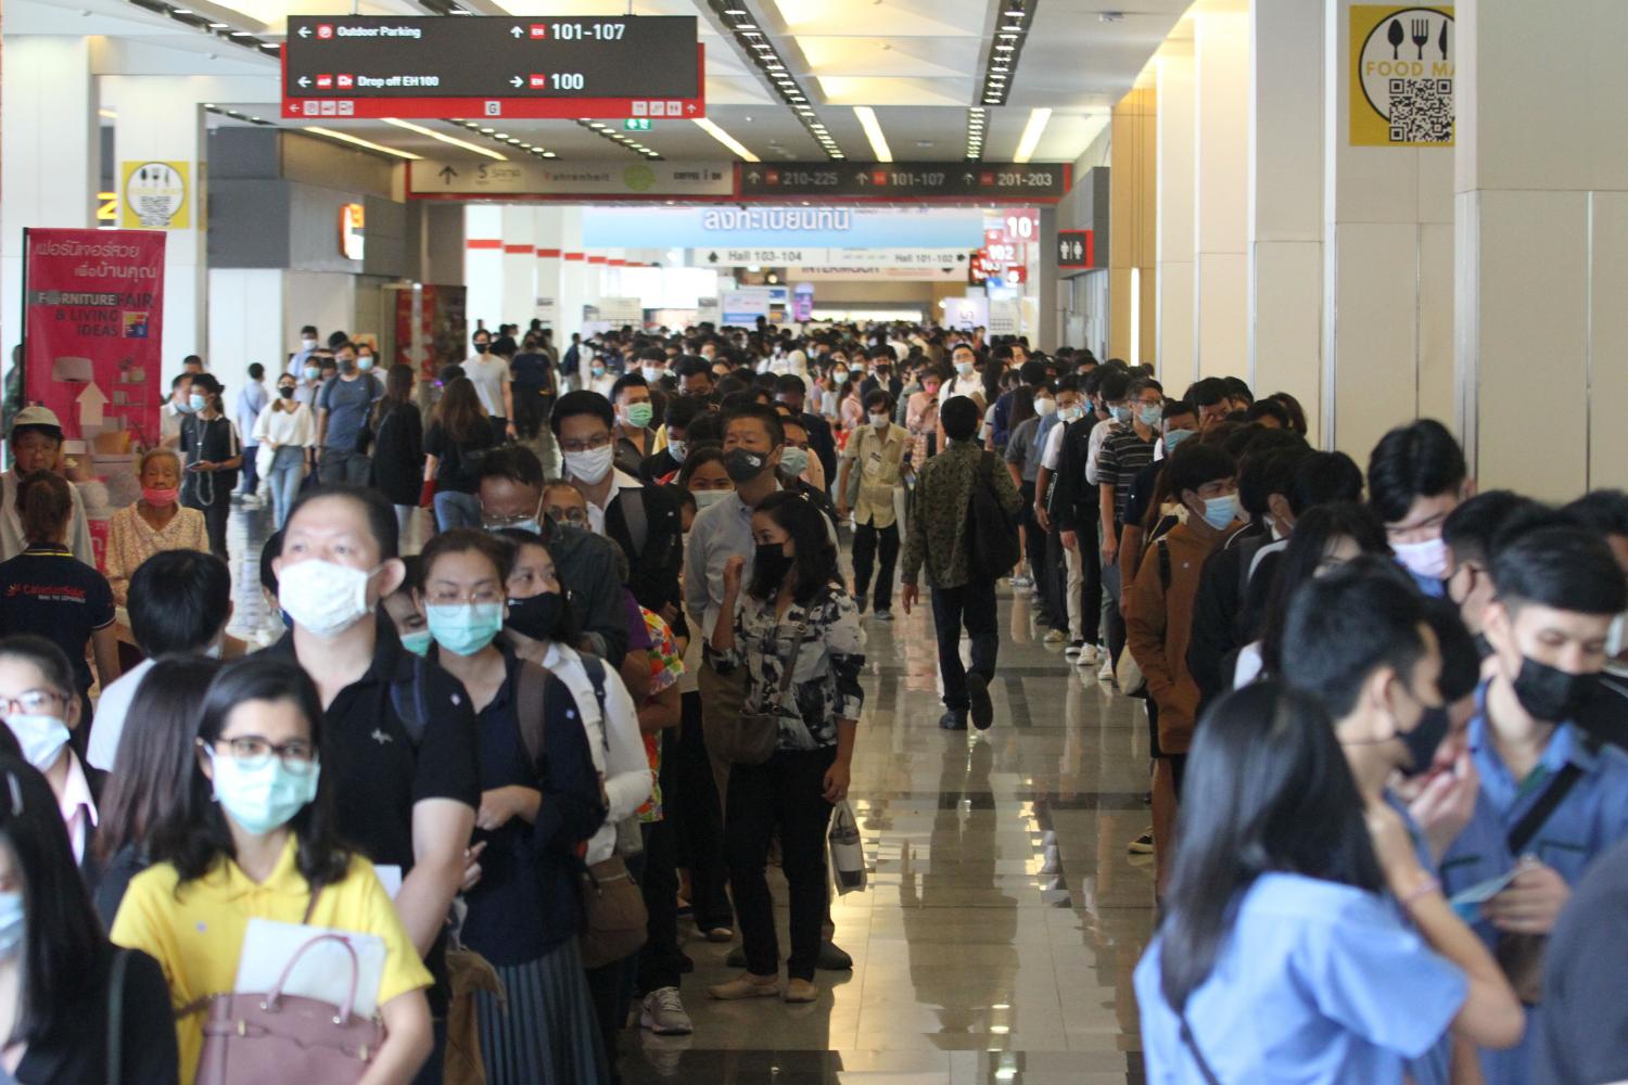
[[[8,36],[0,72],[0,368],[10,369],[10,345],[23,340],[23,229],[93,224],[101,120],[88,37]]]

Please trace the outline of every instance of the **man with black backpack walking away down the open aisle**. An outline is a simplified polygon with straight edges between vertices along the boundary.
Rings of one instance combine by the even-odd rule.
[[[982,412],[965,395],[939,408],[947,446],[917,468],[905,542],[905,613],[918,595],[926,564],[933,589],[938,669],[944,680],[944,730],[985,730],[995,721],[990,682],[1000,649],[995,581],[1017,564],[1017,512],[1022,498],[1000,457],[978,447]],[[972,669],[961,662],[961,630],[972,638]]]

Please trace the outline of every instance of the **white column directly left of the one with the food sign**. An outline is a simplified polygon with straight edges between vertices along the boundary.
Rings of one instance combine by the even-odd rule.
[[[1249,86],[1249,382],[1306,408],[1322,394],[1324,11],[1254,0]]]

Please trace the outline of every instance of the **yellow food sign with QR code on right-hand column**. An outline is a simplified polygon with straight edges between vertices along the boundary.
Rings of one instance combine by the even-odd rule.
[[[1452,146],[1451,7],[1351,5],[1351,146]]]

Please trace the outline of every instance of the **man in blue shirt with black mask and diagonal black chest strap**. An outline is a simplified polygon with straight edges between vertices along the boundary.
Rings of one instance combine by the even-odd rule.
[[[1468,734],[1481,794],[1441,870],[1449,893],[1512,874],[1481,904],[1477,932],[1532,1005],[1530,1038],[1542,1026],[1542,939],[1595,856],[1628,836],[1628,755],[1571,722],[1599,685],[1628,579],[1581,527],[1527,530],[1493,555],[1491,576],[1490,678]],[[1488,1085],[1524,1085],[1530,1043],[1483,1052],[1481,1067]]]

